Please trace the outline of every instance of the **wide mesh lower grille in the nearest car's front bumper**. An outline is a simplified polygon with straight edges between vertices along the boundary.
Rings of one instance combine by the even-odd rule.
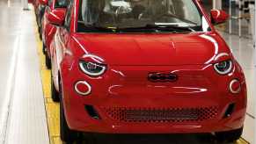
[[[216,106],[203,108],[127,108],[104,107],[103,110],[113,120],[120,122],[196,122],[214,119]]]

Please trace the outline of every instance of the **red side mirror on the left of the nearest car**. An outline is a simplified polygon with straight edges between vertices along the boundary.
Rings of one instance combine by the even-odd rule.
[[[63,25],[66,16],[66,9],[57,8],[48,13],[48,21],[53,25]]]

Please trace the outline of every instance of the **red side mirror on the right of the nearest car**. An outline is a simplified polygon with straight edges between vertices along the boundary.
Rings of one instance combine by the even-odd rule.
[[[228,15],[225,11],[222,10],[211,10],[210,11],[210,18],[213,25],[218,25],[225,23],[230,15]]]

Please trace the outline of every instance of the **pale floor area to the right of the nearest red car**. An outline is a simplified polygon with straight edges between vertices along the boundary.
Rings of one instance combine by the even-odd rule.
[[[245,72],[248,89],[248,107],[243,137],[251,143],[255,141],[255,94],[256,94],[256,50],[250,39],[239,39],[236,35],[222,33],[233,54]]]

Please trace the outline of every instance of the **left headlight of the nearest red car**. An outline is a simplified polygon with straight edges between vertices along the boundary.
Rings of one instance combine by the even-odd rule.
[[[79,61],[79,67],[89,76],[100,76],[106,71],[106,65],[91,61]]]

